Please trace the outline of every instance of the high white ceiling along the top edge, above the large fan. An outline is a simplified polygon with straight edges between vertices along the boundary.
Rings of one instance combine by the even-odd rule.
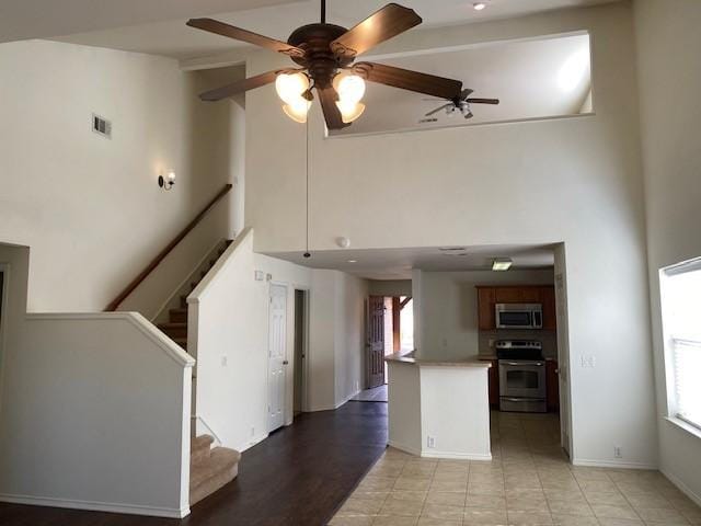
[[[51,3],[51,0],[24,1],[28,4]],[[350,27],[380,9],[388,3],[388,1],[389,0],[329,0],[327,21]],[[489,7],[483,11],[472,9],[472,0],[400,0],[400,3],[415,9],[424,19],[421,27],[432,27],[518,16],[553,9],[608,3],[610,1],[614,0],[490,0]],[[187,2],[187,0],[170,0],[170,2],[166,2],[166,0],[160,0],[158,2],[139,2],[138,0],[120,0],[119,2],[108,2],[107,0],[100,2],[95,0],[70,0],[69,3],[71,5],[80,3],[102,5],[104,3],[105,5],[111,5],[108,10],[111,12],[116,11],[117,5],[134,4],[136,7],[142,3],[149,5],[158,3],[162,5],[169,3],[168,9],[163,8],[163,13],[159,21],[150,16],[149,23],[141,23],[140,25],[138,25],[139,22],[125,22],[124,19],[126,16],[122,14],[111,21],[110,26],[113,28],[104,30],[105,22],[102,21],[104,16],[100,16],[99,22],[101,22],[101,24],[99,24],[97,21],[94,24],[100,31],[89,31],[84,28],[84,26],[89,26],[90,24],[82,24],[83,28],[79,28],[77,27],[77,23],[71,24],[69,23],[70,21],[64,21],[64,23],[61,23],[64,19],[64,9],[61,8],[61,12],[51,13],[51,18],[57,18],[56,23],[53,24],[56,26],[53,34],[70,35],[57,38],[64,42],[165,55],[180,59],[212,55],[244,45],[230,38],[210,35],[185,25],[185,20],[189,16],[212,16],[214,5],[218,3],[228,3],[229,9],[222,9],[215,18],[283,41],[286,41],[297,26],[319,20],[318,0],[303,2],[287,2],[285,0],[229,0],[228,2],[225,2],[225,0],[198,0],[197,4],[193,0],[189,0],[189,2]],[[174,5],[171,7],[170,3]],[[181,4],[189,4],[189,9],[185,9],[185,5]],[[246,10],[245,8],[250,8],[250,4],[257,4],[258,8]],[[269,7],[271,4],[277,5]],[[176,9],[179,7],[181,9]],[[232,7],[235,8],[235,10],[232,10]],[[140,8],[140,10],[145,9],[146,8]],[[240,9],[244,10],[241,11]],[[27,15],[28,9],[13,9],[13,11],[15,10],[22,15],[21,25],[38,25],[39,28],[44,31],[44,36],[51,34],[49,30],[45,27],[45,25],[48,25],[48,21],[41,24],[31,20],[31,16]],[[72,8],[68,11],[76,11],[76,9]],[[91,11],[97,12],[100,9],[92,8]],[[131,19],[138,19],[137,14],[140,13],[133,14],[134,16],[131,16]],[[148,19],[146,15],[141,15],[140,18]],[[2,19],[2,13],[0,13],[0,20]],[[30,22],[35,23],[31,24]],[[2,20],[2,23],[0,23],[0,34],[2,34],[3,26],[5,25],[9,30],[12,24],[8,20]],[[36,30],[35,33],[38,30]],[[16,32],[18,31],[15,31],[15,33]]]

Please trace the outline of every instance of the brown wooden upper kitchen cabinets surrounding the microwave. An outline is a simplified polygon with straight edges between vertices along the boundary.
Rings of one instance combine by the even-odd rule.
[[[555,318],[555,287],[552,285],[478,286],[478,321],[480,330],[494,331],[496,304],[541,304],[543,330],[558,328]]]

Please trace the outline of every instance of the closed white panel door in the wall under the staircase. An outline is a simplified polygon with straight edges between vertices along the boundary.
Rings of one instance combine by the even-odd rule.
[[[271,285],[268,324],[268,432],[285,424],[285,366],[287,365],[287,287]]]

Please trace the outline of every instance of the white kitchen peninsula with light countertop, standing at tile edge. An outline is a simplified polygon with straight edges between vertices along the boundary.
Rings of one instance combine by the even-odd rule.
[[[491,460],[490,362],[386,357],[389,444],[433,458]]]

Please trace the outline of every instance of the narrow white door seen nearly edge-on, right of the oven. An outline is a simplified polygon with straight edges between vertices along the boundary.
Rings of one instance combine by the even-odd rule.
[[[572,414],[570,411],[570,328],[567,289],[563,274],[555,275],[558,309],[558,378],[560,384],[560,434],[562,448],[572,458]]]

